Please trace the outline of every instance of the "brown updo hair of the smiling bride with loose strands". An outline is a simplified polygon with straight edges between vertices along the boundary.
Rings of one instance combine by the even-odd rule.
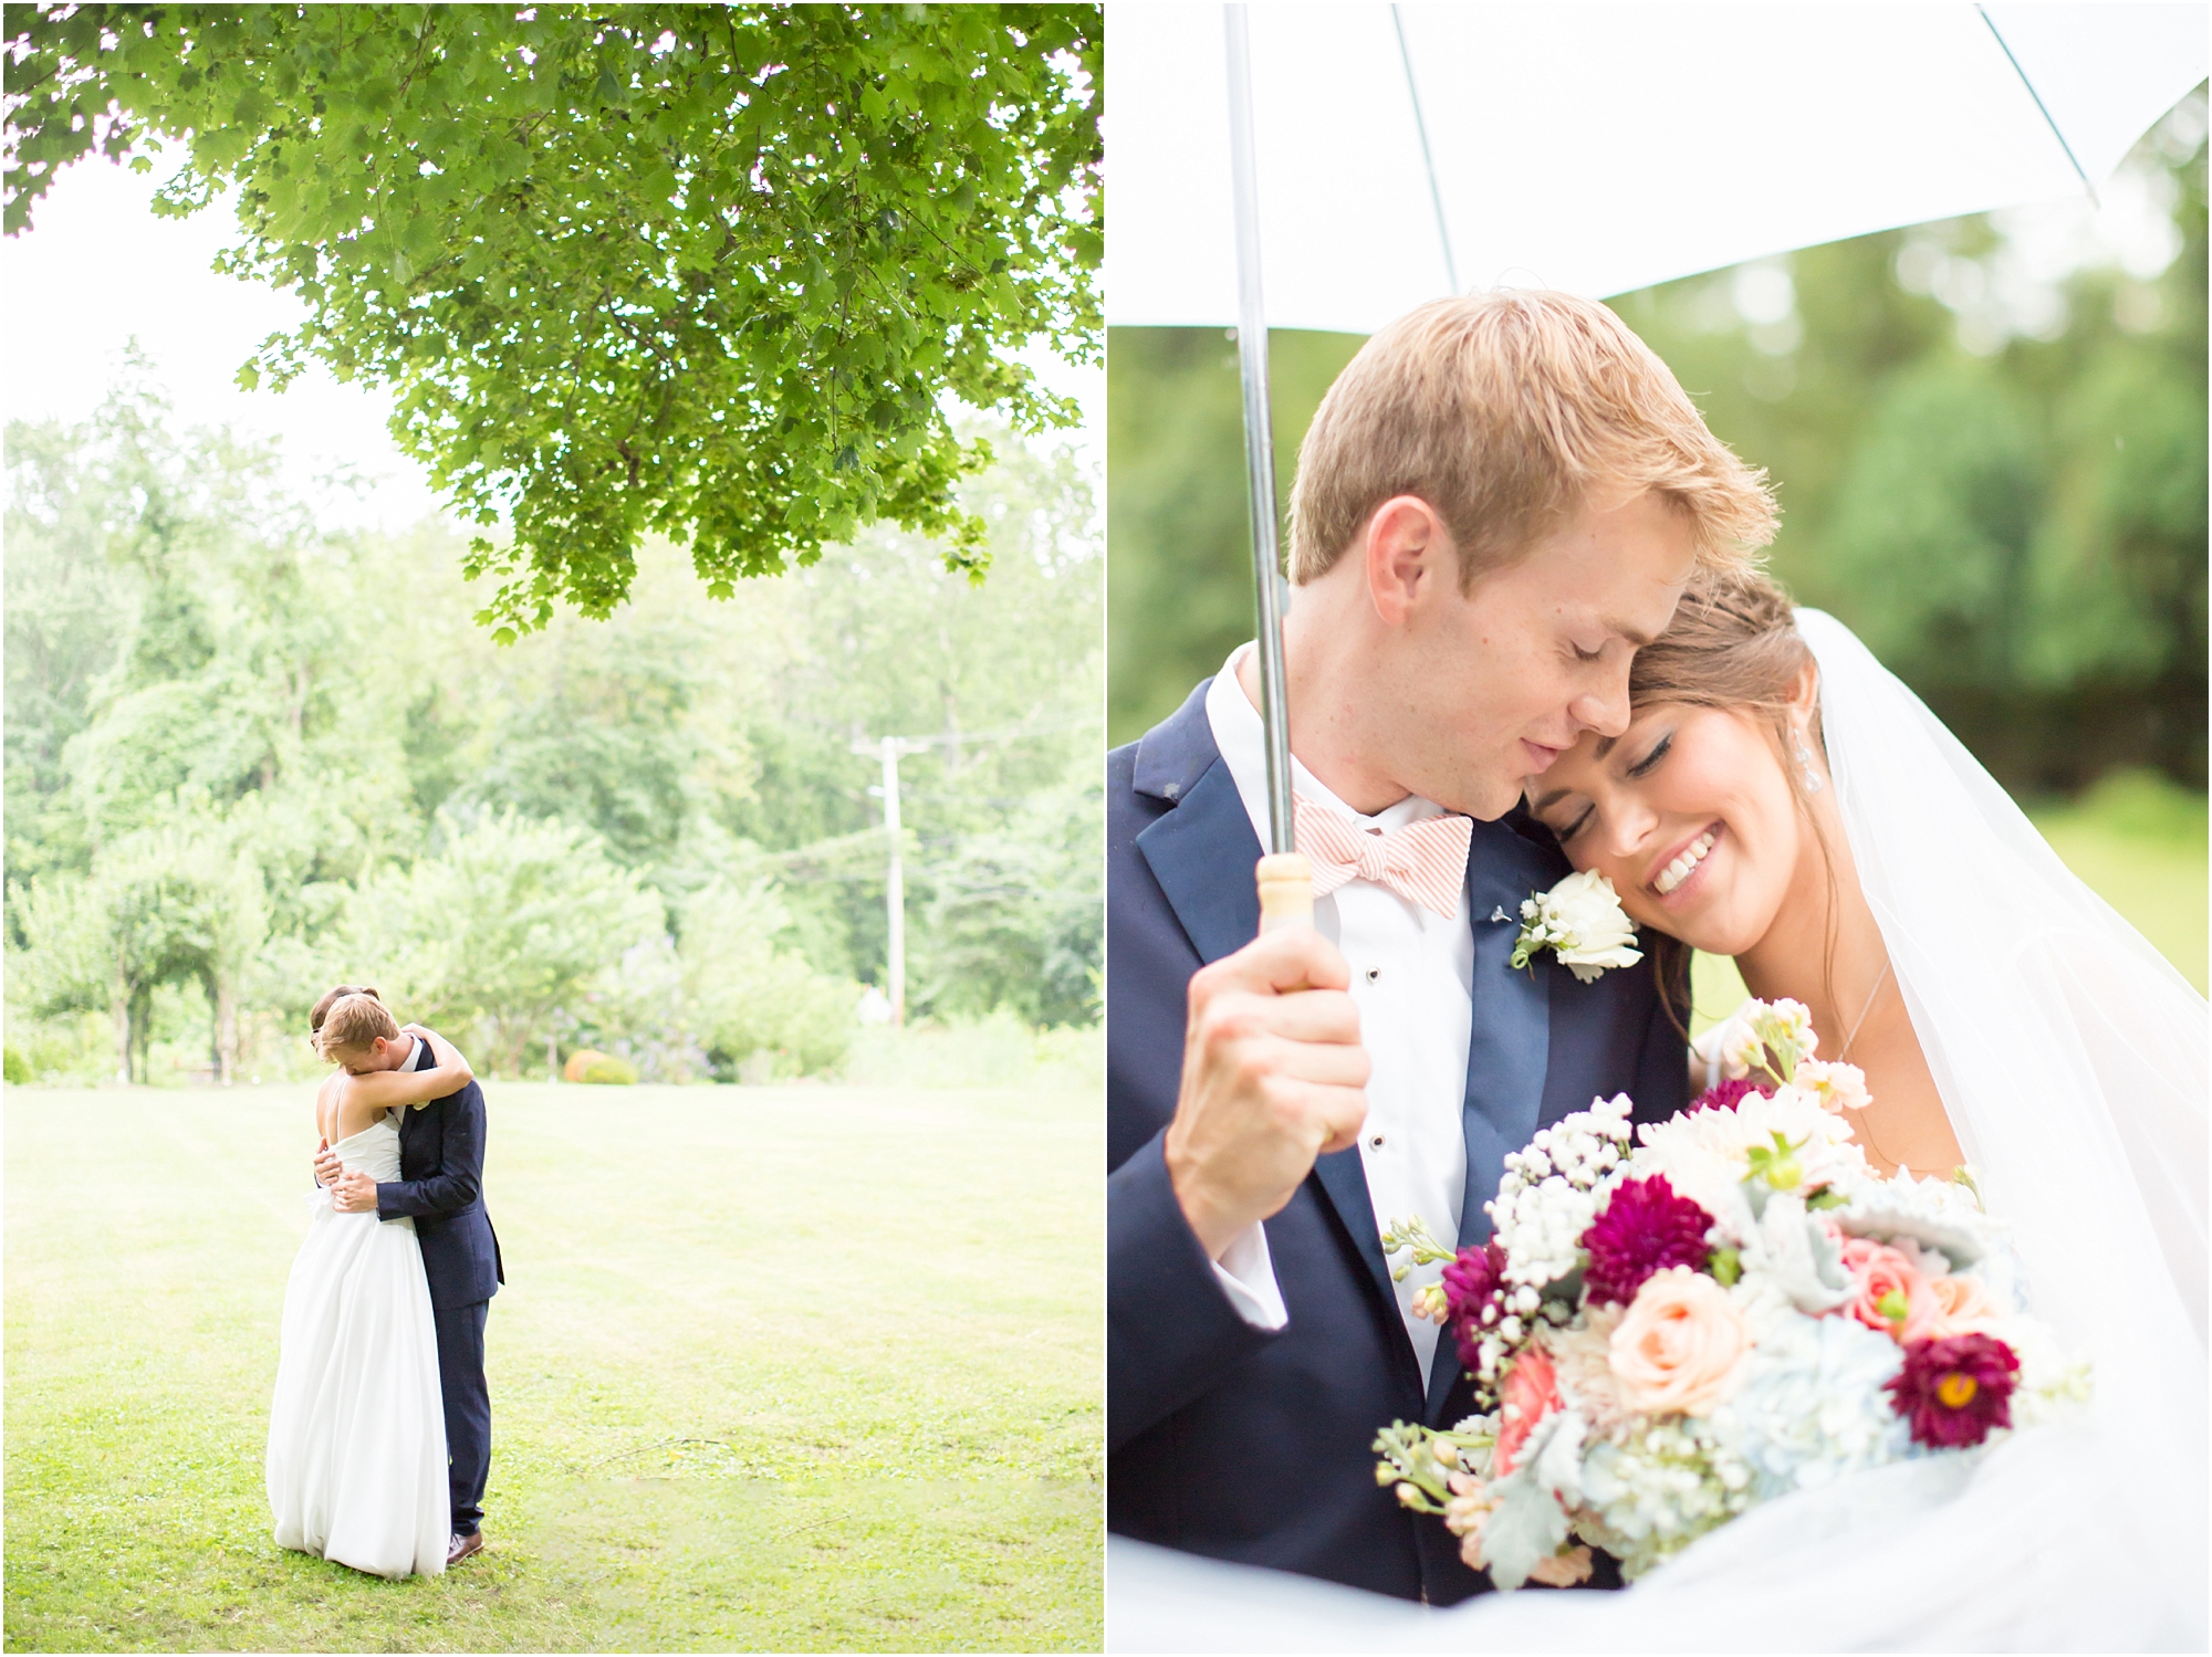
[[[1644,645],[1628,665],[1628,705],[1630,709],[1644,709],[1652,703],[1717,707],[1752,718],[1767,729],[1774,738],[1774,758],[1792,782],[1790,798],[1812,828],[1814,844],[1820,846],[1820,862],[1827,864],[1827,950],[1823,950],[1823,961],[1832,963],[1840,919],[1836,910],[1836,851],[1827,844],[1827,831],[1807,804],[1805,789],[1798,787],[1803,767],[1796,760],[1794,696],[1812,665],[1812,647],[1796,630],[1796,605],[1765,570],[1699,570],[1683,590],[1668,630]],[[1827,758],[1818,700],[1807,720],[1805,740]],[[1659,932],[1652,965],[1659,972],[1668,1010],[1688,1007],[1690,946]]]

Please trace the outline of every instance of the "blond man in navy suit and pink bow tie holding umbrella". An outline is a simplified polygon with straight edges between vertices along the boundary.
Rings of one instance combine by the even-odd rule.
[[[1650,959],[1509,965],[1522,899],[1568,873],[1520,798],[1626,729],[1630,656],[1694,566],[1772,535],[1772,502],[1610,312],[1482,294],[1363,347],[1292,519],[1314,928],[1254,937],[1250,647],[1108,756],[1108,1522],[1451,1604],[1486,1580],[1369,1445],[1475,1405],[1411,1310],[1436,1268],[1394,1281],[1380,1233],[1418,1213],[1480,1244],[1537,1127],[1686,1102],[1686,1010]]]

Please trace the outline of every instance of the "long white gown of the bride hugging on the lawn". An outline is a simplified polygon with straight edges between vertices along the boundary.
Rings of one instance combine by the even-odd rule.
[[[389,1116],[332,1151],[347,1173],[400,1178]],[[414,1220],[338,1213],[327,1189],[310,1202],[270,1405],[276,1547],[380,1577],[438,1575],[453,1518],[438,1326]]]

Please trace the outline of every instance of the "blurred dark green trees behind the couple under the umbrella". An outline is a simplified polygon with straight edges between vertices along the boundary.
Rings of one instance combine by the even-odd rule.
[[[2059,281],[1984,214],[1610,300],[1770,468],[1774,570],[2015,793],[2119,767],[2205,787],[2205,95],[2124,188],[2170,234]],[[2157,230],[2157,223],[2152,223]],[[1270,340],[1276,477],[1360,340]],[[1115,329],[1110,740],[1252,634],[1234,340]]]

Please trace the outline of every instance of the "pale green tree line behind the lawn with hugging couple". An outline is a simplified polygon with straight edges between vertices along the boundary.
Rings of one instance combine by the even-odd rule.
[[[902,764],[909,1007],[1093,1021],[1095,506],[998,448],[982,585],[878,530],[701,603],[648,543],[611,621],[500,647],[458,530],[330,532],[144,384],[9,426],[11,1078],[296,1072],[338,979],[509,1076],[834,1069],[883,970],[883,733],[940,738]]]

